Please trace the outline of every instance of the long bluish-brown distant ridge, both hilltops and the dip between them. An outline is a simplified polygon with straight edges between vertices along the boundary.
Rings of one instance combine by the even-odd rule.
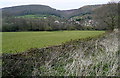
[[[92,11],[101,5],[88,5],[79,9],[73,10],[56,10],[45,5],[22,5],[2,8],[3,16],[23,16],[23,15],[56,15],[59,17],[70,18],[82,14],[90,14]]]

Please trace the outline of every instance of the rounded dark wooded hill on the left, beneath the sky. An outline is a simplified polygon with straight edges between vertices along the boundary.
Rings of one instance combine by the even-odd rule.
[[[8,7],[2,9],[3,16],[23,16],[23,15],[36,15],[36,14],[49,14],[60,16],[61,12],[59,10],[53,9],[45,5],[23,5]]]

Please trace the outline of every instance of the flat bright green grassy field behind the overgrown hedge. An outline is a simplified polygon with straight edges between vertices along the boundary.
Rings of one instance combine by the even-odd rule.
[[[100,35],[104,31],[3,32],[2,52],[23,52],[30,48],[59,45],[71,39]]]

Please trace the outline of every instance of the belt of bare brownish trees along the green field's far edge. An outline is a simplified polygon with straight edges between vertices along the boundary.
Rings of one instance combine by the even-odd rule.
[[[93,27],[85,27],[67,19],[56,20],[54,17],[46,19],[7,17],[3,19],[3,32],[58,30],[93,30]]]

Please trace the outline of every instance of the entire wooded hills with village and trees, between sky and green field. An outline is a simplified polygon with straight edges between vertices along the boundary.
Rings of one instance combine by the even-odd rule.
[[[45,5],[2,8],[2,31],[113,30],[117,27],[117,7],[116,3],[109,3],[72,10]]]

